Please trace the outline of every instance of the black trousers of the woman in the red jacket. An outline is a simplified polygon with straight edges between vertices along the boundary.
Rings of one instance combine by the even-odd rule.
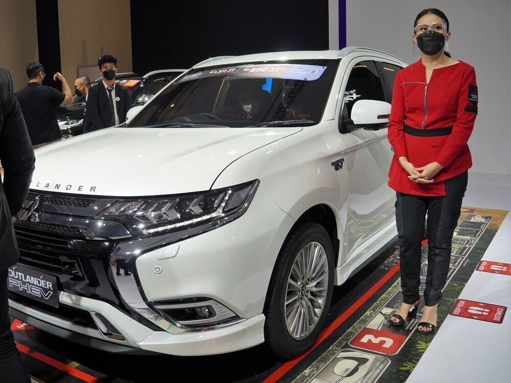
[[[420,298],[421,243],[426,217],[428,271],[424,301],[427,306],[434,306],[442,299],[449,273],[452,236],[461,213],[467,182],[467,172],[446,180],[446,195],[442,197],[396,194],[403,303],[413,304]]]

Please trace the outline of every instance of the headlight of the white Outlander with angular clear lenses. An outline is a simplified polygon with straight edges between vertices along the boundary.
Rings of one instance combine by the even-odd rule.
[[[258,185],[254,180],[207,192],[120,199],[96,217],[120,221],[136,237],[191,229],[188,235],[196,235],[242,216]]]

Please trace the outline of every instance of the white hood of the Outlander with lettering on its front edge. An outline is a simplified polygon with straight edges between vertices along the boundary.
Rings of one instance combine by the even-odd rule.
[[[30,188],[120,197],[199,192],[241,156],[301,129],[107,128],[37,149]]]

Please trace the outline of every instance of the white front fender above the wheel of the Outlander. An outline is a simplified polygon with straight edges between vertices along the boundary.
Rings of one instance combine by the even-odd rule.
[[[341,239],[349,189],[346,169],[333,164],[344,152],[336,134],[335,121],[306,127],[240,157],[219,175],[213,188],[259,179],[269,197],[294,222],[311,207],[327,205]]]

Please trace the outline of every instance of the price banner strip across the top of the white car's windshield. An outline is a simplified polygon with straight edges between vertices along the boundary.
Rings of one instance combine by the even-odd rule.
[[[323,74],[326,66],[304,64],[255,64],[211,69],[184,76],[179,82],[205,77],[228,76],[229,79],[274,78],[285,80],[314,81]]]

